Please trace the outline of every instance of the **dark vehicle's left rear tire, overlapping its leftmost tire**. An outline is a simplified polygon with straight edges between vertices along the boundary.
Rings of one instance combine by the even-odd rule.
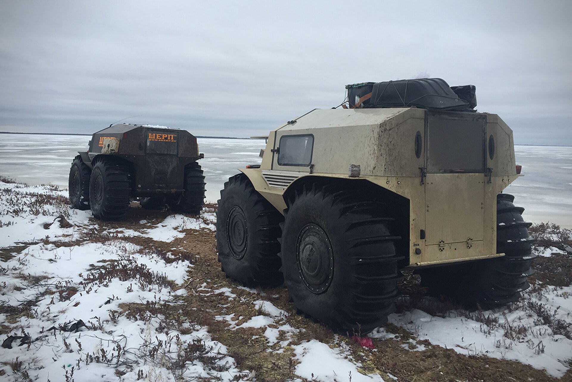
[[[93,216],[102,220],[121,219],[129,208],[129,167],[116,159],[102,159],[93,166],[89,181],[89,204]]]

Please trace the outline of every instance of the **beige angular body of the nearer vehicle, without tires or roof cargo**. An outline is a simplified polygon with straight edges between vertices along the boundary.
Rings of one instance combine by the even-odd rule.
[[[299,153],[288,136],[305,137]],[[271,132],[261,168],[243,172],[281,212],[280,196],[305,176],[356,181],[356,192],[367,180],[403,196],[411,266],[502,255],[496,195],[518,178],[512,131],[498,116],[416,108],[312,111]]]

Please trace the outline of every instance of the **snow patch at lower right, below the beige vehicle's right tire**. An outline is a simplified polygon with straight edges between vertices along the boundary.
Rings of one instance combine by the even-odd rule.
[[[389,322],[414,333],[418,340],[471,355],[519,361],[562,377],[572,361],[572,287],[537,285],[509,308],[478,313],[450,310],[432,316],[413,309],[394,313]],[[566,335],[565,335],[566,334]],[[384,328],[373,338],[393,338]]]

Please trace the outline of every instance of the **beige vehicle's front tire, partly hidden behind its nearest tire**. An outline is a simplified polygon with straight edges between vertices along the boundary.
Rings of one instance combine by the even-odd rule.
[[[220,192],[216,241],[221,269],[246,286],[276,286],[280,273],[279,223],[283,216],[244,174],[229,178]]]

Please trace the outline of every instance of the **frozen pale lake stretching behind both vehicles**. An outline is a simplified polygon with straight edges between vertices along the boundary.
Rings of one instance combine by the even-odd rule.
[[[78,151],[86,150],[89,136],[0,135],[0,175],[30,184],[67,187],[69,166]],[[224,182],[246,164],[260,163],[264,140],[198,139],[205,159],[206,199],[216,202]],[[572,228],[572,147],[516,146],[522,178],[506,192],[526,208],[525,219],[553,222]]]

